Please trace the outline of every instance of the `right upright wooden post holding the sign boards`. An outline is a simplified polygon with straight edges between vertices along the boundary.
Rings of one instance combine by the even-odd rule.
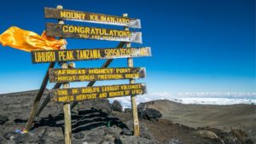
[[[123,17],[128,17],[128,14],[123,14]],[[125,31],[129,31],[129,27],[125,26]],[[126,43],[126,48],[131,48],[131,43]],[[128,67],[133,67],[133,59],[128,58]],[[130,84],[135,84],[135,79],[130,79]],[[131,111],[133,117],[133,135],[139,136],[139,122],[137,117],[137,101],[136,95],[131,95]]]

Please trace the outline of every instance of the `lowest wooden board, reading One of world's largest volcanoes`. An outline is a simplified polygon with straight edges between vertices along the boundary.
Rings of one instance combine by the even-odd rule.
[[[126,95],[143,95],[145,93],[145,84],[120,84],[50,90],[51,99],[57,102],[105,99]]]

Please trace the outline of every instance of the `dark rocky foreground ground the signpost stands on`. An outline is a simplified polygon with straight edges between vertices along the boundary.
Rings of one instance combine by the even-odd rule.
[[[0,95],[0,143],[64,143],[62,105],[50,102],[35,118],[28,134],[15,133],[26,125],[37,91]],[[44,98],[48,91],[44,93]],[[118,101],[83,101],[72,112],[73,144],[253,144],[242,130],[193,128],[162,118],[151,103],[138,106],[140,136],[132,135],[131,109]]]

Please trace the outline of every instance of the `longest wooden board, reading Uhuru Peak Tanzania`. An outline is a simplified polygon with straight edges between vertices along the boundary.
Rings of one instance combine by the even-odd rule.
[[[150,47],[108,49],[65,49],[32,51],[32,63],[100,60],[151,56]]]

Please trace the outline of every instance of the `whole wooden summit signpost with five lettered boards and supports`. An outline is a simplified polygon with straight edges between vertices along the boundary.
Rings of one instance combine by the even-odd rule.
[[[146,84],[136,84],[136,78],[145,78],[144,67],[133,67],[134,57],[151,56],[150,47],[131,48],[131,43],[142,43],[141,32],[131,32],[131,28],[140,28],[138,19],[128,18],[128,14],[123,16],[113,16],[108,14],[95,14],[89,12],[62,9],[44,8],[44,18],[59,20],[58,24],[46,23],[46,35],[60,38],[84,38],[95,40],[119,41],[117,48],[102,49],[66,49],[62,45],[60,50],[40,50],[32,51],[32,63],[50,62],[49,69],[45,75],[43,84],[33,103],[32,112],[26,124],[26,130],[30,130],[35,115],[37,116],[47,105],[49,100],[63,103],[65,122],[65,144],[71,144],[72,126],[71,109],[79,101],[106,99],[119,96],[131,95],[131,109],[133,115],[134,135],[139,135],[139,124],[137,118],[136,95],[146,93]],[[115,26],[125,26],[125,30],[106,29],[89,26],[64,25],[63,20],[76,20],[97,24],[108,24]],[[122,48],[123,46],[126,48]],[[127,58],[128,67],[108,68],[113,59]],[[67,62],[77,60],[104,60],[107,61],[101,68],[74,68],[74,64]],[[61,62],[61,68],[54,68],[55,62]],[[130,84],[93,86],[96,81],[129,79]],[[43,95],[47,81],[56,83],[50,90],[49,96],[45,99],[38,110],[38,103]],[[70,88],[69,82],[90,81],[87,87]],[[62,89],[60,89],[62,84]],[[70,103],[73,102],[72,105]]]

